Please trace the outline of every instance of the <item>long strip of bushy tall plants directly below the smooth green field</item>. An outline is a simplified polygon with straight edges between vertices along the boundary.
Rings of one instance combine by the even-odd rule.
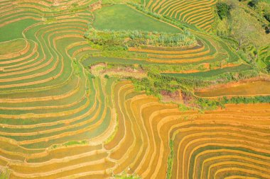
[[[183,33],[158,33],[138,30],[95,30],[90,28],[85,34],[90,42],[102,45],[106,49],[122,47],[140,47],[141,45],[154,47],[185,47],[197,43],[190,31]]]

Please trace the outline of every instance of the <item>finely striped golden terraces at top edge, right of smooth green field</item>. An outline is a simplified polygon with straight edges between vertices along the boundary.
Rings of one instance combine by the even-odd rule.
[[[216,3],[216,0],[144,0],[143,2],[144,6],[153,12],[195,25],[207,32],[212,29],[215,20],[212,6]]]

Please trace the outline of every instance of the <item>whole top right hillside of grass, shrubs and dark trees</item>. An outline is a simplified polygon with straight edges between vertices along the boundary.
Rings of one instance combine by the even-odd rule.
[[[261,50],[270,41],[269,1],[222,0],[216,4],[217,21],[213,32],[225,39],[249,64],[269,72],[269,59]]]

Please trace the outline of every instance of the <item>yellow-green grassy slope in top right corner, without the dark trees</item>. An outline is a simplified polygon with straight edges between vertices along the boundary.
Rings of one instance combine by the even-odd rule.
[[[229,18],[220,20],[216,18],[214,32],[222,37],[232,37],[236,44],[229,45],[237,49],[238,42],[242,39],[239,54],[247,62],[257,62],[258,67],[264,69],[269,65],[269,52],[264,48],[269,47],[270,35],[265,32],[264,25],[269,22],[264,18],[263,11],[267,11],[269,0],[261,0],[256,8],[251,8],[249,1],[220,0],[231,6]],[[266,2],[266,3],[265,3]],[[255,53],[257,57],[255,56]],[[264,71],[265,72],[265,71]]]

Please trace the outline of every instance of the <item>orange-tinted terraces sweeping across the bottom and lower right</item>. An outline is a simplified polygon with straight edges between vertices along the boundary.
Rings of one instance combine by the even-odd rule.
[[[131,83],[123,81],[114,88],[114,105],[119,129],[108,144],[26,151],[6,142],[1,145],[1,165],[9,161],[11,178],[107,178],[122,171],[142,178],[166,178],[172,139],[172,178],[207,178],[213,173],[218,178],[268,177],[269,104],[227,105],[225,110],[204,114],[180,112],[176,105],[134,92]],[[17,163],[25,154],[28,160]],[[254,172],[258,168],[261,171]]]

